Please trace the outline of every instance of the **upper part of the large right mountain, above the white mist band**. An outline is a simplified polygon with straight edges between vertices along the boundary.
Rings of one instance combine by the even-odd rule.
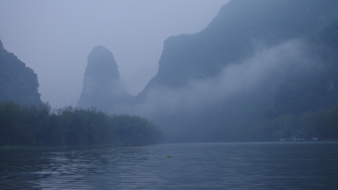
[[[203,31],[164,42],[159,71],[140,95],[213,77],[224,66],[252,56],[259,45],[314,35],[338,16],[337,7],[337,0],[232,0]]]

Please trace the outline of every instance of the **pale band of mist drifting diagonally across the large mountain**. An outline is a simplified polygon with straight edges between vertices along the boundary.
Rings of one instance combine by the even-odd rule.
[[[290,70],[298,70],[309,62],[301,50],[300,40],[290,40],[270,48],[257,48],[251,58],[227,65],[213,78],[190,80],[183,88],[159,87],[150,90],[146,101],[134,107],[134,113],[152,118],[164,112],[194,112],[253,91],[267,80],[281,81]]]

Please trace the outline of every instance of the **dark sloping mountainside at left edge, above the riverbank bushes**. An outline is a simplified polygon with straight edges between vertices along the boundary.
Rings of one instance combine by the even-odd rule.
[[[0,40],[0,102],[41,104],[38,87],[34,71],[4,49]]]

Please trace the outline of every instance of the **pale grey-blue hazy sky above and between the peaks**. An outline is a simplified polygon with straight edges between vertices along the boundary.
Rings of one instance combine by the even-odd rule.
[[[200,32],[228,0],[0,0],[0,39],[39,78],[42,101],[76,106],[87,55],[113,52],[131,94],[157,73],[163,41]]]

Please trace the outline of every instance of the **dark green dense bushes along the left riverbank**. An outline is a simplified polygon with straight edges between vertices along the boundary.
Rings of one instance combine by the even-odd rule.
[[[0,146],[147,145],[161,138],[160,129],[139,116],[0,103]]]

